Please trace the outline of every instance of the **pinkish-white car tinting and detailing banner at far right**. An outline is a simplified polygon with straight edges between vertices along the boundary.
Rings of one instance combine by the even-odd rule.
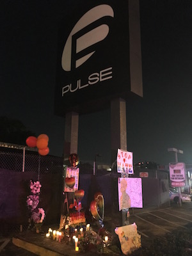
[[[169,164],[170,180],[181,182],[186,179],[186,165],[184,163]]]

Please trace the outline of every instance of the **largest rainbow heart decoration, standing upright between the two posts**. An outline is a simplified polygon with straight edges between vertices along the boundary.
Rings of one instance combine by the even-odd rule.
[[[92,212],[93,218],[95,220],[103,221],[104,220],[104,197],[101,193],[94,196],[95,200],[93,200],[90,204],[90,211]]]

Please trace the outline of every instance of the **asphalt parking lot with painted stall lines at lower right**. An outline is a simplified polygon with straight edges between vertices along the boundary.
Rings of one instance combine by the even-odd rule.
[[[171,204],[163,209],[145,211],[137,209],[130,216],[130,223],[135,222],[143,240],[150,240],[154,236],[174,232],[178,228],[188,230],[192,227],[192,202]]]

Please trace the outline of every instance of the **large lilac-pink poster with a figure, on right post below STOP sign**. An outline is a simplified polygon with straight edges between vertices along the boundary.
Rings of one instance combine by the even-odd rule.
[[[127,208],[143,208],[141,178],[118,178],[119,211]]]

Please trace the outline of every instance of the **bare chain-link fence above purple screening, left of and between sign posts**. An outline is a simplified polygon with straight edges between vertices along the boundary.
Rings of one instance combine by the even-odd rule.
[[[58,173],[63,172],[63,157],[40,156],[36,149],[0,142],[0,169],[14,172]],[[92,174],[93,164],[86,161],[79,163],[82,174]],[[38,177],[39,178],[39,177]]]

